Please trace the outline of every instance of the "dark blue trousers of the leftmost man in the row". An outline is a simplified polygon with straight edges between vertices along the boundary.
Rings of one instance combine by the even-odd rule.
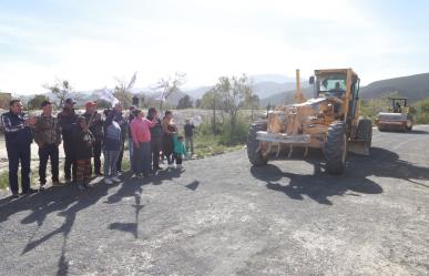
[[[18,168],[21,162],[21,185],[22,193],[30,191],[30,144],[8,144],[6,145],[9,159],[9,185],[13,194],[18,194]]]

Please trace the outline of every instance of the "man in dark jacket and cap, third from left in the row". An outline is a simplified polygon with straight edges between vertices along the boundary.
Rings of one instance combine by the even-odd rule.
[[[64,147],[64,176],[65,182],[75,181],[76,177],[76,161],[73,152],[73,127],[76,124],[78,115],[74,113],[75,102],[72,99],[67,99],[64,109],[58,114],[58,121],[62,130],[62,145]]]

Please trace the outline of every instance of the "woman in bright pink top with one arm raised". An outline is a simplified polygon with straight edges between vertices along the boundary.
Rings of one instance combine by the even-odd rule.
[[[133,137],[133,170],[136,176],[149,176],[151,172],[151,131],[156,124],[157,113],[152,121],[144,117],[142,110],[135,111],[135,119],[131,122],[131,135]]]

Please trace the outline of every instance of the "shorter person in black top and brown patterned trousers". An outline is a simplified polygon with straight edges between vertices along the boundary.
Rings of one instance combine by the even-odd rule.
[[[91,157],[94,136],[89,130],[86,119],[78,117],[78,124],[73,130],[73,150],[76,159],[76,181],[79,190],[88,188],[91,180]]]

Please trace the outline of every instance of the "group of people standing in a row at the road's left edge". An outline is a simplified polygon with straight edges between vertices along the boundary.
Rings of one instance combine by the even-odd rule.
[[[30,187],[31,143],[39,145],[40,190],[47,183],[48,161],[51,164],[52,185],[62,186],[78,183],[80,190],[89,187],[94,173],[104,176],[104,183],[119,183],[125,141],[130,150],[131,168],[137,177],[147,177],[159,170],[164,157],[168,166],[182,166],[182,157],[187,155],[183,136],[178,135],[173,113],[166,111],[160,119],[156,109],[149,109],[147,116],[135,106],[123,116],[123,105],[118,103],[105,110],[104,119],[96,110],[95,102],[85,104],[83,115],[74,111],[72,99],[64,101],[63,110],[53,116],[53,105],[49,101],[41,104],[42,113],[30,117],[23,113],[20,100],[10,102],[10,111],[1,115],[6,146],[9,159],[9,185],[13,197],[38,192]],[[193,129],[186,121],[186,143],[193,153]],[[59,178],[59,146],[63,144],[64,180]],[[104,155],[103,172],[101,153]],[[93,166],[92,166],[93,159]],[[18,170],[21,163],[22,193],[19,194]]]

